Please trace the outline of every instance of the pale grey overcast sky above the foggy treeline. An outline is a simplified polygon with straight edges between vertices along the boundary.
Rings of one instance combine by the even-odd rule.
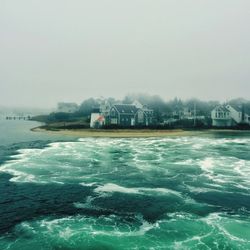
[[[250,99],[249,0],[0,0],[0,105]]]

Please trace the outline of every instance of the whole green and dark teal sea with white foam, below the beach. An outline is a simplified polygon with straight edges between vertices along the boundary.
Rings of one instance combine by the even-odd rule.
[[[0,249],[250,249],[250,132],[74,138],[0,121]]]

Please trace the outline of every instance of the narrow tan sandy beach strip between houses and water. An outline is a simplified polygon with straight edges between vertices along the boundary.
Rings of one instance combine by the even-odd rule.
[[[244,130],[219,130],[219,129],[205,129],[205,130],[152,130],[152,129],[58,129],[49,130],[43,127],[32,128],[33,132],[42,132],[51,135],[72,136],[72,137],[93,137],[93,138],[148,138],[148,137],[168,137],[168,136],[194,136],[202,135],[211,132],[217,133],[241,133]]]

